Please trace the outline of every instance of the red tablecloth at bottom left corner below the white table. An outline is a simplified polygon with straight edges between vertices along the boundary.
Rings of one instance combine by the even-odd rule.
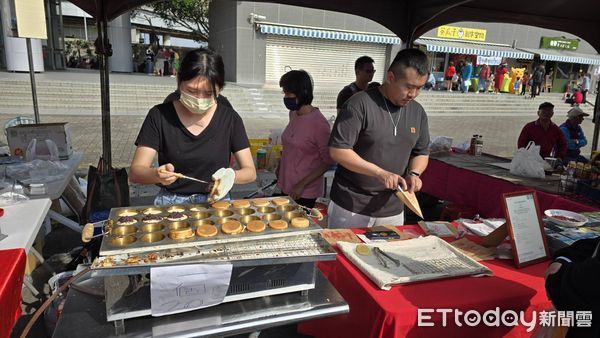
[[[0,337],[9,337],[21,315],[25,250],[0,250]]]

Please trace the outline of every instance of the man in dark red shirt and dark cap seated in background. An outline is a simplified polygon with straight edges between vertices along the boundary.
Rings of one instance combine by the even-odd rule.
[[[567,141],[558,126],[552,122],[554,105],[550,102],[540,104],[538,108],[538,119],[529,122],[521,130],[517,148],[525,148],[529,141],[540,146],[542,157],[554,156],[562,159],[567,154]]]

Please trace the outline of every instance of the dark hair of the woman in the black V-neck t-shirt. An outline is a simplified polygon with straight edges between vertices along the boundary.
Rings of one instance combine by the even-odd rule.
[[[197,76],[208,79],[212,85],[213,96],[216,98],[216,88],[223,89],[225,86],[225,65],[221,55],[209,48],[189,51],[181,60],[181,67],[177,72],[177,87],[183,81],[189,81]]]

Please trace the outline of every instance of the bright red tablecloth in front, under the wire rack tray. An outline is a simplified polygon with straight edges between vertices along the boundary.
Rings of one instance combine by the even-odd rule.
[[[411,227],[412,228],[412,227]],[[357,230],[358,231],[358,230]],[[516,269],[512,261],[482,262],[492,277],[461,277],[378,289],[343,254],[337,261],[319,263],[319,268],[350,305],[350,313],[302,323],[302,333],[316,337],[530,337],[526,327],[462,327],[448,316],[446,327],[441,313],[432,314],[433,327],[417,325],[417,310],[458,309],[533,311],[549,309],[543,274],[547,262]]]

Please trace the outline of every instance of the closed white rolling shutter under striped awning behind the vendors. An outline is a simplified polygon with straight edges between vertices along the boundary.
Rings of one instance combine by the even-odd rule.
[[[266,82],[278,84],[291,69],[304,69],[319,84],[348,84],[355,80],[354,61],[367,55],[375,60],[373,81],[381,82],[385,44],[268,35]]]

